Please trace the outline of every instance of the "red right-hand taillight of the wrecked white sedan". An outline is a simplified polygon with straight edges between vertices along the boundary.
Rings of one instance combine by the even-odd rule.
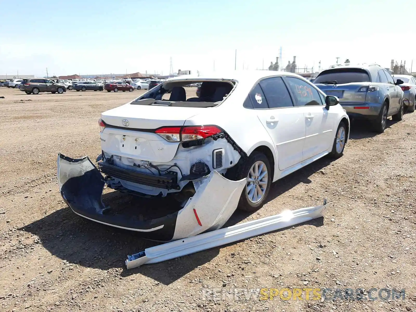
[[[169,142],[201,140],[221,132],[217,126],[163,127],[155,131]]]

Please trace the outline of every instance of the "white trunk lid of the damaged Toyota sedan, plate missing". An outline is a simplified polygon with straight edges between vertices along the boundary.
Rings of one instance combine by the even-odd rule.
[[[154,130],[164,126],[183,126],[186,119],[204,110],[206,108],[132,104],[110,109],[102,113],[101,119],[117,128],[108,126],[101,133],[102,150],[154,163],[171,161],[180,142],[168,142]]]

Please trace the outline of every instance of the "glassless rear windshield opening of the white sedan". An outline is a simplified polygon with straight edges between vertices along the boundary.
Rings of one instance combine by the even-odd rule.
[[[213,107],[220,104],[234,88],[229,80],[210,80],[196,87],[198,81],[166,81],[149,90],[131,104],[181,107]],[[201,80],[199,81],[201,82]],[[193,85],[194,87],[191,87]],[[196,92],[198,89],[198,93]]]

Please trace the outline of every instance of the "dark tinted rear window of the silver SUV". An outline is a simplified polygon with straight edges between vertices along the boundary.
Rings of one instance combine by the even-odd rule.
[[[364,69],[334,68],[324,70],[314,80],[314,84],[348,84],[351,82],[371,82]]]

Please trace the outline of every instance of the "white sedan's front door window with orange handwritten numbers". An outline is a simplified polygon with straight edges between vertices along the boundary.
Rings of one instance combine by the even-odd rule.
[[[285,78],[295,96],[296,106],[323,105],[319,92],[310,84],[296,77]]]

